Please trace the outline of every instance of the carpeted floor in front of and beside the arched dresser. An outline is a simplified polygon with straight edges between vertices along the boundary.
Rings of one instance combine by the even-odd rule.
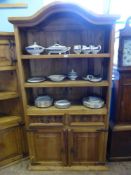
[[[131,175],[131,162],[108,163],[109,171],[29,171],[28,161],[0,169],[0,175]]]

